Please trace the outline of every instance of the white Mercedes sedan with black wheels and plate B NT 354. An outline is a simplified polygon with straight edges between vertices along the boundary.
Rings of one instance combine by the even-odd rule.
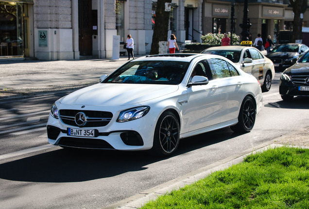
[[[49,143],[168,156],[184,137],[229,126],[250,132],[263,99],[254,76],[217,55],[145,56],[100,81],[52,105]]]

